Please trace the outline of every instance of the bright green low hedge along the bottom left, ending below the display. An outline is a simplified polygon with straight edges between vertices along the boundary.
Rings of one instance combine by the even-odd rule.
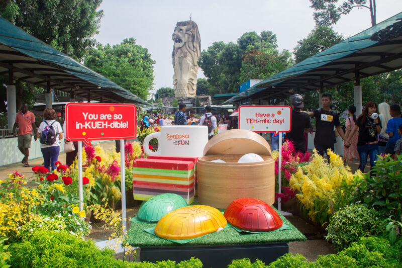
[[[171,260],[151,262],[127,262],[114,259],[114,251],[100,250],[92,241],[82,240],[70,233],[61,231],[37,231],[32,236],[9,247],[11,265],[18,268],[35,267],[114,267],[114,268],[198,268],[199,259],[191,258],[180,263]]]

